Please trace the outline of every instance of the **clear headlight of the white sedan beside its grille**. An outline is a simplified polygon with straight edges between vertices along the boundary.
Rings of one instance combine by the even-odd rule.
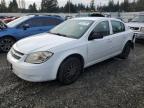
[[[25,59],[25,62],[31,64],[41,64],[46,62],[51,56],[53,55],[52,52],[49,51],[41,51],[29,54]]]

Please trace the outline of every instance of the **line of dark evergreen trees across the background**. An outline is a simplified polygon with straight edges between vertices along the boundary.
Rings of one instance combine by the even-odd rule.
[[[87,6],[83,3],[74,4],[67,1],[67,3],[59,7],[57,0],[41,0],[41,5],[37,6],[36,3],[30,4],[26,8],[25,0],[11,0],[9,4],[5,0],[0,2],[0,12],[64,12],[64,13],[76,13],[80,11],[90,12],[90,11],[101,11],[101,12],[136,12],[144,10],[144,0],[124,0],[124,2],[115,3],[114,0],[109,0],[108,5],[96,6],[95,0],[91,0],[90,4]]]

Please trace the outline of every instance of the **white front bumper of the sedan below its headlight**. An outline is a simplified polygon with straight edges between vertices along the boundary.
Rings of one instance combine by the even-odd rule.
[[[8,61],[12,64],[12,71],[18,77],[30,82],[43,82],[56,79],[56,72],[52,61],[43,64],[30,64],[16,60],[9,52]]]

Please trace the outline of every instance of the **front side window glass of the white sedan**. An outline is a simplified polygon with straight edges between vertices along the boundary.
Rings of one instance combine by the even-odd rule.
[[[102,36],[110,35],[110,27],[108,21],[100,22],[94,29],[94,32]]]

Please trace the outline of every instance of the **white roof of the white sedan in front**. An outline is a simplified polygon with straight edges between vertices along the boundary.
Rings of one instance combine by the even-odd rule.
[[[91,21],[99,21],[99,20],[116,20],[120,21],[119,19],[116,18],[107,18],[107,17],[80,17],[80,18],[73,18],[73,20],[91,20]]]

